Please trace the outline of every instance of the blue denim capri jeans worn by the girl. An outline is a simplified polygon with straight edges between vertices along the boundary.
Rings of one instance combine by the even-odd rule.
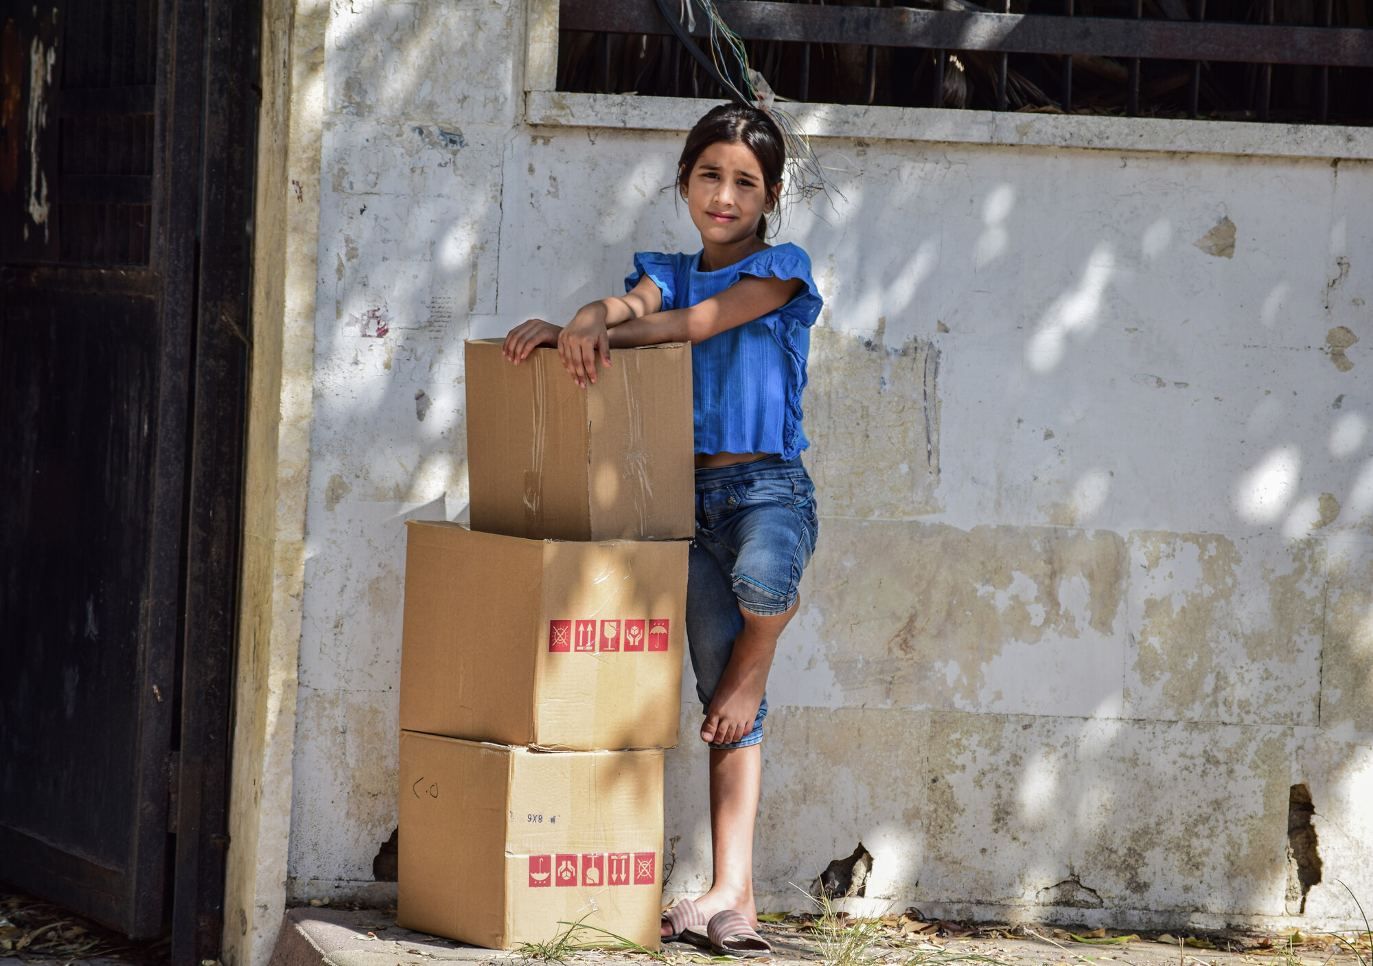
[[[789,611],[818,531],[816,486],[800,457],[770,456],[696,471],[686,642],[703,712],[735,652],[735,638],[744,628],[739,608],[758,615]],[[765,694],[752,731],[711,748],[757,745],[763,740],[766,716]]]

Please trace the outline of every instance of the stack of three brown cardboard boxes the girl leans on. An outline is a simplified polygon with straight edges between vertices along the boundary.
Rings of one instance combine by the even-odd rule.
[[[582,921],[656,950],[693,532],[688,346],[467,344],[471,528],[409,524],[401,925],[492,948]]]

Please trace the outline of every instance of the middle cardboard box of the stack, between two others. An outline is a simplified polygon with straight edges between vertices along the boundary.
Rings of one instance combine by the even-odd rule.
[[[401,727],[571,751],[676,745],[686,554],[685,542],[411,520]]]

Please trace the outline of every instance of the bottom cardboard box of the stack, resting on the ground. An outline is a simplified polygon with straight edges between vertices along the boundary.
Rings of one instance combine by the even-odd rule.
[[[659,947],[660,751],[541,752],[401,731],[400,799],[401,926],[508,950],[582,919]]]

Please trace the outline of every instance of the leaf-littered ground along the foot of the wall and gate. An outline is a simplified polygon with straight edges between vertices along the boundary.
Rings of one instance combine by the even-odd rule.
[[[908,912],[913,912],[909,910]],[[1373,966],[1368,937],[1359,954],[1341,950],[1330,937],[1287,937],[1262,933],[1207,933],[1178,939],[1145,934],[1119,939],[1111,932],[1096,943],[1082,943],[1054,926],[965,925],[920,922],[912,915],[881,921],[791,915],[765,922],[762,933],[773,945],[773,966]],[[1090,934],[1078,933],[1083,939]],[[1190,944],[1188,941],[1190,940]],[[1204,948],[1207,945],[1215,948]],[[395,925],[394,910],[299,907],[287,912],[270,966],[438,966],[445,962],[542,966],[637,963],[670,966],[721,963],[685,943],[670,943],[660,954],[607,948],[479,950]],[[0,896],[0,966],[161,966],[166,941],[129,943],[117,933],[81,919],[60,907],[14,893]],[[209,961],[203,966],[218,966]]]

